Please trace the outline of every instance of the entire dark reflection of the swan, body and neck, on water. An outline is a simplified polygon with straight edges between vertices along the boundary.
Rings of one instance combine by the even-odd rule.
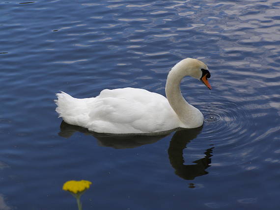
[[[210,166],[212,150],[214,147],[205,151],[205,157],[193,161],[194,165],[184,165],[183,151],[187,147],[187,144],[200,133],[203,126],[196,129],[184,129],[176,131],[172,136],[172,139],[168,148],[169,161],[172,167],[175,169],[175,174],[185,180],[193,180],[198,176],[208,174],[205,171]],[[60,124],[59,136],[69,138],[76,131],[83,132],[85,134],[93,135],[99,142],[100,146],[112,147],[115,149],[128,149],[135,148],[145,144],[152,144],[158,140],[164,138],[165,135],[155,136],[143,136],[143,135],[127,135],[127,136],[115,136],[104,133],[96,133],[88,131],[80,126],[73,126],[65,123]]]

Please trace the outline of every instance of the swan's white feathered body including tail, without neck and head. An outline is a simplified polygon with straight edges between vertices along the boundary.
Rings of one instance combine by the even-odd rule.
[[[56,111],[66,123],[95,132],[146,133],[179,127],[168,100],[138,88],[105,89],[95,98],[57,94]]]

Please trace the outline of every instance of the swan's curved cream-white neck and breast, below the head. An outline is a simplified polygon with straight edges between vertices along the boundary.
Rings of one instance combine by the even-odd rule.
[[[190,74],[188,69],[183,71],[183,67],[178,64],[175,65],[168,74],[165,89],[166,96],[170,106],[183,123],[180,127],[196,128],[202,125],[203,115],[196,107],[190,105],[182,96],[180,89],[181,80]]]

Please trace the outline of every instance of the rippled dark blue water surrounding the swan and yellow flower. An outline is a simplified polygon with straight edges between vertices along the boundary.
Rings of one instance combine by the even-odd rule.
[[[0,210],[279,210],[280,1],[0,1]],[[61,123],[53,102],[103,89],[165,95],[184,79],[201,128],[110,137]]]

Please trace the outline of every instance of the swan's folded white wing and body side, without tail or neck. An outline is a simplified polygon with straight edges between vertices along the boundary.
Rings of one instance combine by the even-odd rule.
[[[89,110],[86,128],[91,131],[141,133],[178,127],[167,99],[143,89],[106,89],[86,105]]]

